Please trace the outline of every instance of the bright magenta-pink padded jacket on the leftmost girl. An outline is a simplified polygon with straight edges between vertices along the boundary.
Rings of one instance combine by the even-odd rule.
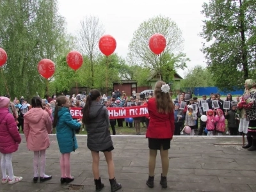
[[[10,154],[18,150],[21,142],[15,119],[8,108],[0,108],[0,152]]]

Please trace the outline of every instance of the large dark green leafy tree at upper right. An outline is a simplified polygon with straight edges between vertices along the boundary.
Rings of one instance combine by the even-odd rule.
[[[221,90],[234,90],[255,78],[255,0],[210,0],[204,3],[202,51]]]

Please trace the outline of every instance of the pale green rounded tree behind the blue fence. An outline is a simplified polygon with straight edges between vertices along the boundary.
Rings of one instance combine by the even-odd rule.
[[[213,75],[207,68],[197,65],[188,68],[184,79],[180,81],[180,87],[183,90],[193,92],[195,87],[215,86]]]

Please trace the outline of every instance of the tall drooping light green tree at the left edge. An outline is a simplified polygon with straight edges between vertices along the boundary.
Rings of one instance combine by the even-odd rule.
[[[44,95],[47,81],[38,74],[38,62],[56,61],[66,44],[65,20],[58,13],[57,0],[3,0],[0,18],[0,47],[8,54],[3,71],[10,95],[27,99]]]

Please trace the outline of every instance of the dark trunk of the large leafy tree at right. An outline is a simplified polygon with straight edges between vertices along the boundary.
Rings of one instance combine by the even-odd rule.
[[[241,34],[241,54],[242,54],[242,65],[244,71],[244,81],[249,79],[248,74],[248,61],[247,61],[247,47],[246,47],[246,40],[245,40],[245,29],[244,29],[244,10],[243,10],[243,3],[242,0],[239,0],[240,9],[239,9],[239,21],[240,21],[240,34]]]

